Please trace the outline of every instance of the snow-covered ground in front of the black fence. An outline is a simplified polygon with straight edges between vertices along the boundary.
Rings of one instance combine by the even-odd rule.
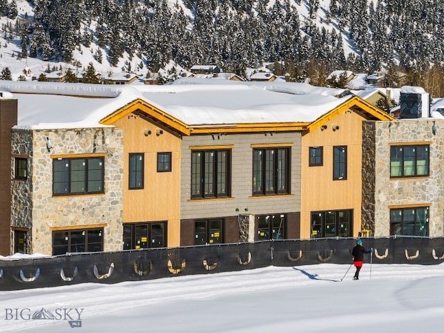
[[[349,267],[0,291],[0,332],[442,332],[444,264]]]

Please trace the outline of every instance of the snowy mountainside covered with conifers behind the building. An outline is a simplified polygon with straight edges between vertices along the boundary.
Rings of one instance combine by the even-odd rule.
[[[275,74],[287,80],[325,85],[334,69],[384,69],[386,85],[402,72],[439,94],[443,10],[434,0],[0,0],[0,69],[13,58],[22,68],[12,79],[34,60],[46,71],[91,62],[103,76],[146,76],[173,60],[246,76],[281,62]]]

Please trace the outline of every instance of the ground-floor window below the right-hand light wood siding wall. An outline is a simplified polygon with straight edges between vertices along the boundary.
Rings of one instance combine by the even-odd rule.
[[[352,210],[311,213],[311,238],[352,237]]]

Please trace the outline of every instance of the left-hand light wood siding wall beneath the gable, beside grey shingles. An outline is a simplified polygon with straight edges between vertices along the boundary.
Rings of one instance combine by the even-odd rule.
[[[180,138],[135,114],[113,125],[123,128],[123,223],[167,221],[168,246],[179,246]],[[171,152],[171,172],[157,172],[159,152]],[[144,153],[144,189],[128,189],[130,153]]]

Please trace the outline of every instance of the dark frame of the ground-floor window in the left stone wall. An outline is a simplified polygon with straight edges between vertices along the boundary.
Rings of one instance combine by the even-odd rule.
[[[93,232],[99,232],[100,242],[97,241],[89,241],[89,238],[93,238]],[[83,243],[75,243],[74,242],[74,234],[81,233],[83,238]],[[64,244],[58,244],[56,245],[56,235],[60,234],[63,236],[65,234],[65,241],[67,241],[66,245]],[[89,235],[91,234],[91,235]],[[53,255],[65,255],[66,253],[88,253],[88,252],[102,252],[103,251],[103,228],[86,228],[86,229],[69,229],[69,230],[53,230],[52,232],[52,252]],[[72,251],[73,246],[84,246],[83,250],[80,251]],[[99,245],[99,249],[93,249],[92,246]],[[67,248],[67,251],[65,252],[56,252],[56,248]]]

